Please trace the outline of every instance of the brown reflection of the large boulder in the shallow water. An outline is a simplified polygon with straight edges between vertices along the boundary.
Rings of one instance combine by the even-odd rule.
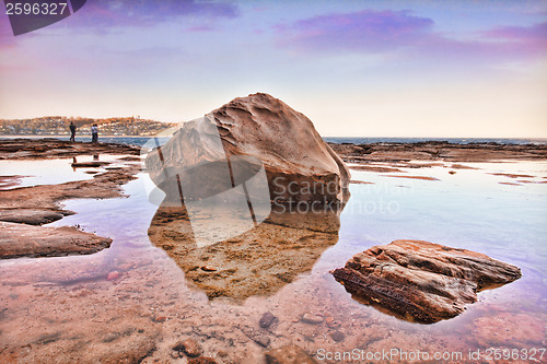
[[[201,219],[209,219],[206,214]],[[243,301],[271,295],[299,274],[309,272],[322,254],[338,242],[336,212],[274,211],[255,228],[211,246],[198,247],[186,209],[160,207],[148,231],[209,298]],[[230,228],[222,221],[211,228]]]

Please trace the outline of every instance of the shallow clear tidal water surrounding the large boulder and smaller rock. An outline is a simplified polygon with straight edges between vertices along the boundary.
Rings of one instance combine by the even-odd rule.
[[[79,224],[85,231],[112,237],[113,245],[91,256],[0,261],[0,342],[4,349],[2,352],[0,348],[0,357],[7,353],[23,361],[80,357],[85,356],[85,348],[95,348],[96,352],[85,357],[96,359],[113,348],[105,336],[126,327],[143,331],[140,336],[120,336],[115,341],[119,348],[137,350],[130,338],[158,341],[154,354],[146,362],[171,361],[173,343],[193,337],[205,354],[219,362],[261,363],[265,349],[249,330],[268,336],[269,348],[294,342],[315,353],[317,360],[325,352],[397,349],[431,355],[459,352],[464,356],[452,362],[474,362],[468,357],[469,350],[480,350],[482,360],[487,360],[488,348],[545,348],[547,184],[537,181],[547,177],[547,163],[465,165],[479,169],[434,166],[400,168],[404,173],[392,174],[352,171],[352,179],[374,184],[350,185],[351,198],[340,216],[338,243],[325,250],[309,274],[271,296],[255,296],[243,303],[222,298],[210,302],[185,280],[165,251],[150,244],[147,231],[158,207],[148,201],[144,184],[150,181],[146,174],[124,187],[126,198],[65,201],[67,209],[78,214],[50,225]],[[532,183],[500,184],[523,179]],[[456,318],[420,325],[357,303],[328,273],[358,251],[400,238],[484,253],[519,266],[523,277],[479,293],[479,302],[468,305]],[[117,275],[109,278],[112,272]],[[257,326],[266,310],[279,318],[269,330]],[[333,317],[340,327],[304,324],[299,320],[304,313]],[[337,330],[346,336],[341,342],[330,336]],[[44,343],[48,341],[44,336],[53,333],[56,339]],[[394,356],[391,361],[405,359]]]

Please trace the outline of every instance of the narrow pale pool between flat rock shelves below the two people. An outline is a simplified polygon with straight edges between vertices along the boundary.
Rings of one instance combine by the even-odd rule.
[[[100,155],[101,162],[113,162],[114,160],[124,155]],[[73,168],[71,166],[72,158],[56,158],[56,160],[39,160],[39,161],[0,161],[0,176],[23,176],[19,179],[15,186],[7,189],[18,187],[28,187],[37,185],[57,185],[74,180],[85,180],[93,178],[89,171],[104,172],[104,167],[115,166],[105,165],[98,167],[84,167]],[[92,155],[79,155],[77,162],[91,162]]]

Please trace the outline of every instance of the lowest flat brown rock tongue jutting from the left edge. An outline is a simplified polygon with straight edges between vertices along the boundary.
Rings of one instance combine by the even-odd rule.
[[[110,238],[72,226],[43,227],[0,222],[0,259],[93,254],[109,247],[110,243]]]

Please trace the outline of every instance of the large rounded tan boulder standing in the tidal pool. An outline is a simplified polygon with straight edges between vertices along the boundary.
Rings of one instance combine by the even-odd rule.
[[[211,136],[211,130],[220,134],[220,149],[214,145],[218,137]],[[344,201],[348,189],[349,169],[323,141],[312,121],[261,93],[235,98],[198,121],[184,124],[161,148],[161,154],[154,150],[148,155],[147,169],[152,180],[165,190],[161,186],[164,168],[216,163],[226,155],[261,161],[271,199],[279,201],[331,203]],[[207,178],[212,184],[216,175],[208,172]],[[176,190],[171,192],[177,196]]]

